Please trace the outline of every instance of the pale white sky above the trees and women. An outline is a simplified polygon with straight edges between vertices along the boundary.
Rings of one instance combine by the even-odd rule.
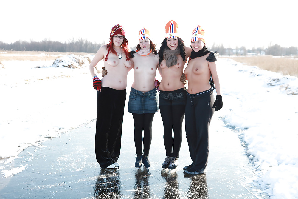
[[[101,2],[105,1],[105,2]],[[138,44],[139,30],[150,31],[151,40],[164,39],[165,24],[174,20],[180,37],[190,46],[193,29],[205,31],[207,46],[298,47],[298,1],[106,1],[106,0],[0,0],[0,41],[68,42],[74,39],[108,42],[111,28],[121,24],[128,45]]]

